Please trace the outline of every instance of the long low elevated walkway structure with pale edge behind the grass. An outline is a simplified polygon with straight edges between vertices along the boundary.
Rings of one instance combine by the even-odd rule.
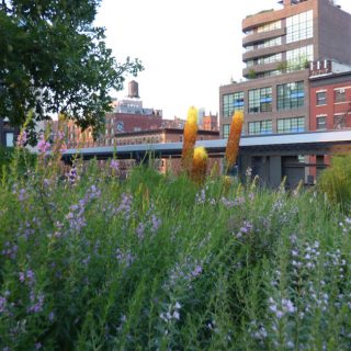
[[[223,157],[227,140],[196,141],[196,146],[206,148],[210,157]],[[148,157],[179,158],[182,143],[139,144],[116,147],[92,147],[68,149],[63,154],[63,160],[70,162],[76,156],[83,159],[107,159],[115,156],[118,159],[135,159],[141,161]],[[239,171],[252,168],[253,174],[272,186],[281,183],[284,176],[288,184],[294,186],[303,179],[308,180],[306,167],[322,169],[326,165],[309,163],[308,156],[322,156],[351,152],[351,131],[314,132],[296,134],[275,134],[260,136],[242,136],[239,150]]]

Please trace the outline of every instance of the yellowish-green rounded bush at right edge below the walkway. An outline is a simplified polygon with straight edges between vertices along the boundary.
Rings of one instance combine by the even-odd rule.
[[[335,156],[318,179],[318,189],[346,211],[351,206],[351,155]]]

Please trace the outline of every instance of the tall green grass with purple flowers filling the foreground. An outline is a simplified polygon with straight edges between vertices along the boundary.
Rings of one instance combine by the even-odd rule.
[[[324,196],[47,162],[0,189],[0,350],[350,349],[351,220]]]

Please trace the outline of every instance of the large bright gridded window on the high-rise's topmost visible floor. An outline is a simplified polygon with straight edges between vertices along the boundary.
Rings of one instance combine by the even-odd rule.
[[[307,39],[313,35],[313,10],[286,19],[286,44]]]

